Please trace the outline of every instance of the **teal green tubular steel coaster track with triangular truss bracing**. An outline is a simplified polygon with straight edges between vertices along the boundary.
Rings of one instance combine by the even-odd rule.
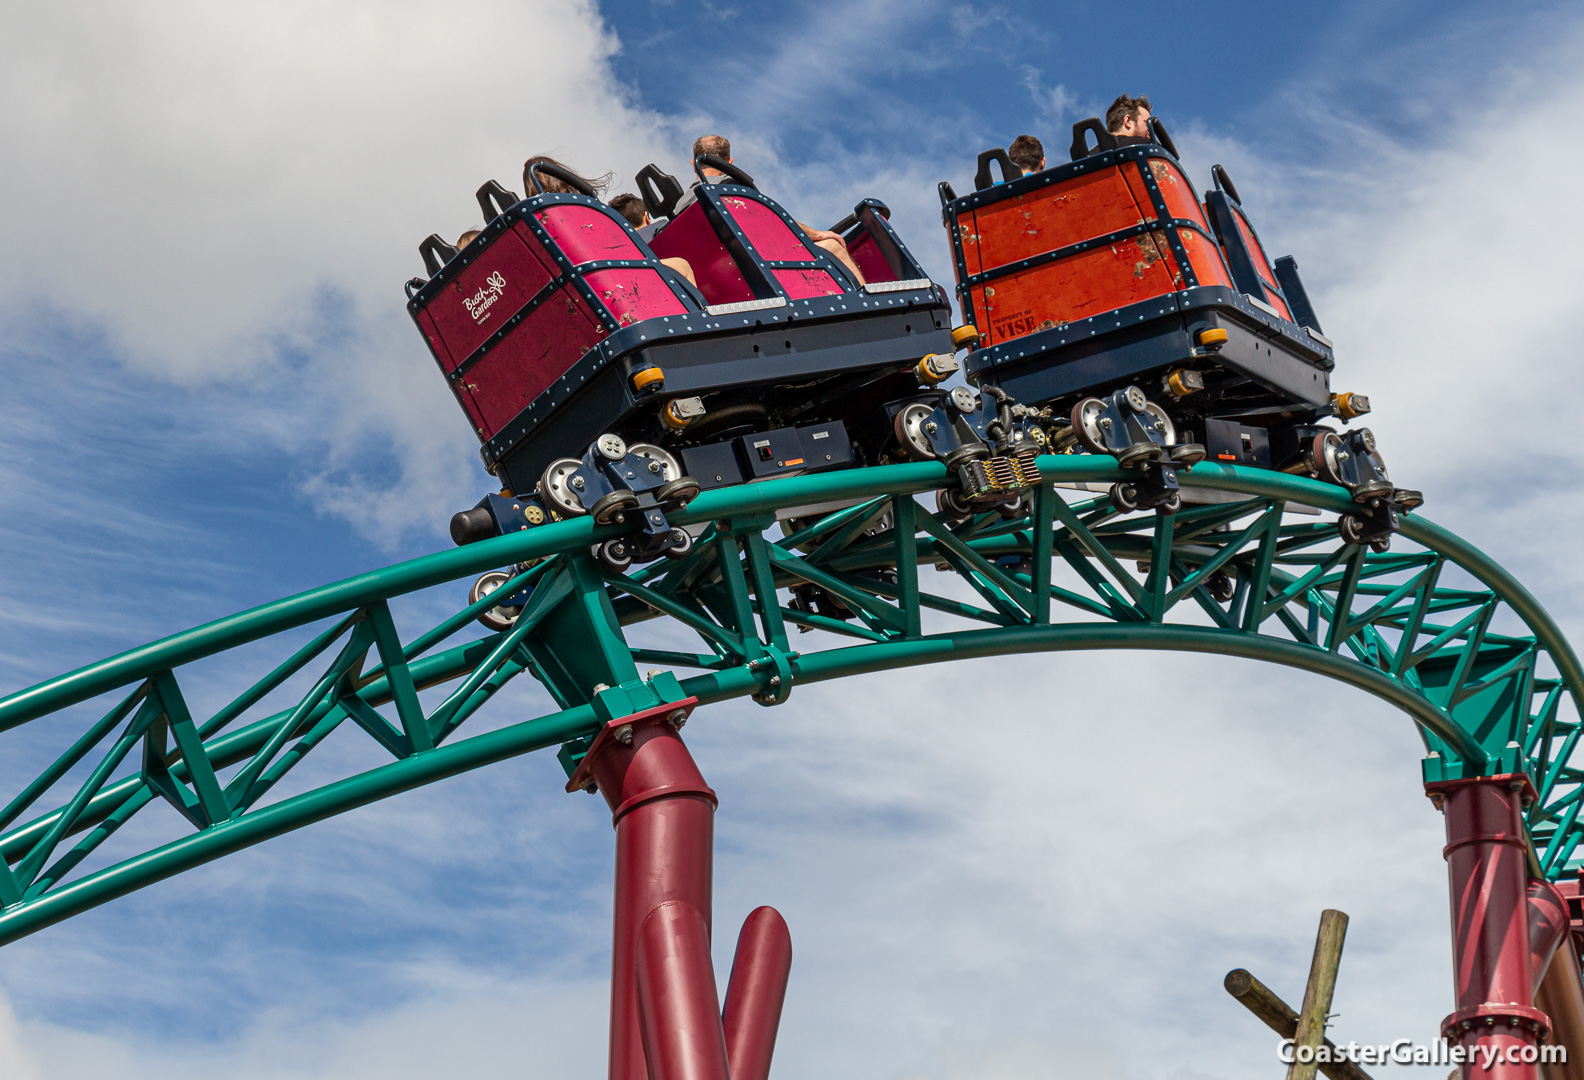
[[[1332,518],[1351,507],[1346,492],[1283,473],[1201,464],[1183,485],[1209,502],[1120,516],[1102,489],[1082,489],[1125,478],[1112,459],[1041,458],[1039,469],[1045,483],[1012,519],[928,510],[917,496],[947,483],[939,464],[705,492],[676,515],[703,526],[694,551],[626,575],[589,556],[615,530],[554,523],[266,603],[0,698],[0,732],[70,709],[49,730],[70,744],[0,808],[0,944],[518,754],[561,747],[570,771],[602,724],[662,702],[779,705],[805,683],[1072,649],[1242,656],[1367,690],[1415,721],[1427,779],[1527,773],[1540,793],[1533,861],[1552,877],[1576,869],[1584,668],[1535,597],[1475,546],[1418,515],[1389,553],[1346,545]],[[778,521],[813,505],[819,513],[797,516],[813,526]],[[510,630],[477,637],[485,599],[402,640],[393,600],[461,591],[497,567],[532,586]],[[792,588],[817,589],[821,603],[805,610]],[[629,645],[624,627],[649,619],[697,651]],[[456,643],[464,632],[474,637]],[[279,640],[253,645],[266,638]],[[236,678],[234,697],[195,716],[187,665],[230,675],[268,648],[285,659]],[[640,664],[654,670],[642,676]],[[558,711],[459,736],[523,671]],[[391,760],[272,797],[337,728]],[[130,841],[112,842],[117,830],[155,800],[187,828],[120,850]]]

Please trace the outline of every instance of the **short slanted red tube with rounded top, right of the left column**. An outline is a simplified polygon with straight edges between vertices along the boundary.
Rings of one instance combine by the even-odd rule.
[[[775,907],[757,907],[743,920],[725,987],[725,1051],[732,1080],[767,1080],[776,1048],[781,1006],[792,974],[792,934]]]

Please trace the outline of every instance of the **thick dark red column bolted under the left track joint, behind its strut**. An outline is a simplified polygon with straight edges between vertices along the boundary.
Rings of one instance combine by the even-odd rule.
[[[649,1080],[637,949],[643,920],[661,904],[680,901],[697,912],[705,934],[703,971],[714,996],[708,934],[716,798],[678,735],[694,705],[697,700],[689,698],[611,721],[567,784],[567,790],[588,790],[594,784],[616,827],[610,1080]]]

